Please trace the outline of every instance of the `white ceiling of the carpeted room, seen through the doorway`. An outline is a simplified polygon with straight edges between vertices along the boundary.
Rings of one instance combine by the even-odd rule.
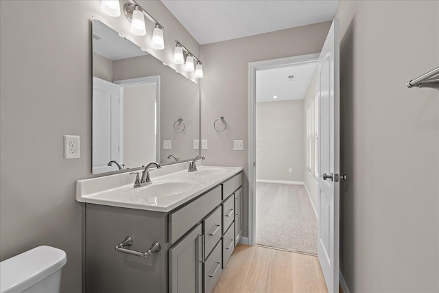
[[[256,102],[304,99],[317,62],[256,72]],[[294,78],[289,78],[294,75]],[[273,96],[278,96],[276,99]]]

